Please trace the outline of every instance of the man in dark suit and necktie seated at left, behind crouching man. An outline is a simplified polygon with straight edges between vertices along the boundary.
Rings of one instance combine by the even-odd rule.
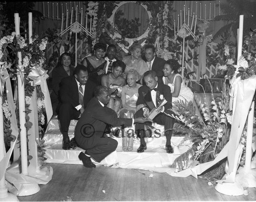
[[[60,131],[63,135],[62,149],[69,150],[75,148],[74,140],[70,142],[68,131],[70,121],[78,120],[93,98],[94,82],[88,80],[88,71],[86,66],[78,64],[74,71],[74,76],[63,78],[60,82],[59,98],[60,103],[57,107]]]

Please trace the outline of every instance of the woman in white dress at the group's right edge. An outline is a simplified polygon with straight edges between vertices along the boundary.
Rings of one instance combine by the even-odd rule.
[[[163,83],[170,86],[173,104],[177,101],[193,102],[194,94],[183,82],[181,75],[178,74],[179,68],[180,64],[177,60],[167,60],[163,68]]]

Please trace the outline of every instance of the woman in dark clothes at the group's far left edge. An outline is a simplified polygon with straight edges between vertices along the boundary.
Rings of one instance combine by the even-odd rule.
[[[75,68],[71,64],[71,54],[70,53],[62,53],[59,57],[59,61],[56,67],[52,71],[52,87],[53,91],[51,93],[51,102],[52,102],[52,109],[53,115],[57,115],[56,107],[59,103],[59,83],[61,79],[66,78],[68,76],[72,76],[74,73]]]

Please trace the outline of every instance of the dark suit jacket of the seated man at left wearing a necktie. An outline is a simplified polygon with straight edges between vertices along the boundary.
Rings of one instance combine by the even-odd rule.
[[[84,96],[83,96],[83,107],[86,108],[88,102],[93,98],[94,88],[96,84],[87,80],[86,87],[84,88]],[[78,94],[78,86],[75,79],[75,76],[63,78],[60,82],[59,89],[59,98],[60,103],[68,102],[71,103],[73,107],[79,105],[79,94]]]

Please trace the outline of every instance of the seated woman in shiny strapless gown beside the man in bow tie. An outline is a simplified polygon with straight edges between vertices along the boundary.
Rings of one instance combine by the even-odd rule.
[[[126,72],[127,84],[122,87],[122,109],[118,111],[119,118],[133,118],[137,111],[136,102],[138,100],[138,89],[141,84],[138,84],[139,74],[136,70],[130,70]],[[139,106],[140,108],[142,106]],[[138,107],[138,108],[139,108]],[[133,131],[135,127],[126,127],[124,129],[125,134],[122,137],[122,149],[123,150],[133,150]],[[127,145],[128,142],[128,145]]]

